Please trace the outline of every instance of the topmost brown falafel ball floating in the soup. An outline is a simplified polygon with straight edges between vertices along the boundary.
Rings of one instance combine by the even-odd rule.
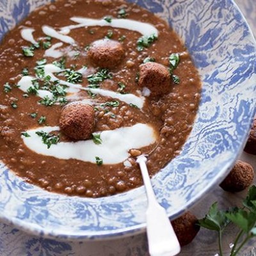
[[[87,54],[93,65],[115,68],[124,58],[125,51],[120,42],[102,39],[93,42]]]

